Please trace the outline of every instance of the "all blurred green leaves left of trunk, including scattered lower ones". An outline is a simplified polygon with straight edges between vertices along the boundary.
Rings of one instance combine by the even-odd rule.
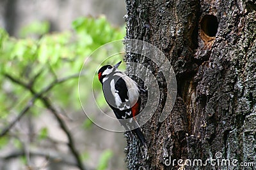
[[[125,35],[124,28],[112,27],[105,17],[77,18],[72,23],[72,28],[72,31],[49,33],[48,22],[33,22],[20,30],[21,38],[10,37],[0,28],[0,129],[24,110],[35,96],[33,93],[42,92],[52,83],[79,73],[84,60],[88,59],[94,50],[110,41],[123,39]],[[116,45],[113,48],[120,49],[122,46]],[[92,83],[92,80],[88,80],[90,77],[88,75],[95,74],[99,61],[104,60],[105,57],[108,57],[106,50],[90,57],[83,74],[84,78],[81,80],[84,87],[79,94],[77,77],[54,85],[42,95],[49,97],[57,108],[65,110],[65,113],[82,111],[78,97],[86,101],[90,92],[89,83]],[[10,80],[7,75],[18,82]],[[96,74],[95,76],[97,77]],[[93,80],[93,85],[95,89],[100,89],[99,81]],[[100,106],[104,105],[102,99],[99,98],[97,101],[100,101]],[[44,113],[44,110],[44,104],[36,100],[29,110],[31,113],[29,115],[35,117]],[[88,129],[91,125],[91,120],[86,119],[83,127]],[[44,127],[36,136],[40,140],[47,139],[49,130]],[[10,136],[1,137],[0,148],[6,146],[10,138]],[[16,148],[21,147],[17,139],[13,142]],[[111,155],[110,151],[102,154],[98,169],[106,169]],[[26,157],[22,158],[22,162],[26,163]]]

